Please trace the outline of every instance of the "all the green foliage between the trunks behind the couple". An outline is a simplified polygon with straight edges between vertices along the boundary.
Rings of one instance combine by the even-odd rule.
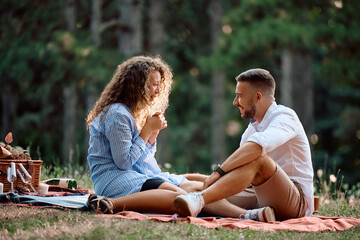
[[[124,57],[115,50],[116,27],[104,31],[102,45],[94,47],[90,1],[75,1],[81,11],[76,11],[75,31],[67,31],[65,2],[1,2],[1,134],[3,138],[13,132],[14,144],[29,146],[33,159],[62,167],[63,90],[75,84],[78,121],[73,164],[86,169],[87,86],[94,86],[98,96]],[[234,77],[248,68],[263,67],[278,79],[281,53],[289,48],[309,52],[313,58],[313,134],[318,139],[312,146],[314,169],[340,168],[345,182],[360,181],[358,1],[223,1],[223,24],[231,31],[224,31],[215,53],[209,40],[209,0],[168,0],[165,5],[163,58],[173,68],[175,84],[166,113],[169,140],[159,150],[169,149],[174,171],[210,172],[211,71],[221,70],[228,79],[226,122],[235,129],[227,133],[230,154],[248,124],[232,106]],[[116,9],[116,1],[104,0],[102,20],[115,19]],[[144,29],[144,34],[151,33]],[[142,54],[149,51],[146,41]]]

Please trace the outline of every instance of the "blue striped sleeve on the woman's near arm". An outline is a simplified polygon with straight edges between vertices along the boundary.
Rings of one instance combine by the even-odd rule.
[[[131,166],[145,153],[144,140],[133,138],[132,121],[121,112],[112,112],[106,119],[106,137],[110,142],[111,154],[119,169],[131,169]]]

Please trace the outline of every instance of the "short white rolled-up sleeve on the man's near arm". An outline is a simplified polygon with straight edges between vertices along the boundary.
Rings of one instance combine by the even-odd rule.
[[[286,115],[277,116],[263,132],[255,132],[249,138],[248,142],[255,142],[262,147],[262,155],[271,152],[283,145],[296,135],[295,119]]]

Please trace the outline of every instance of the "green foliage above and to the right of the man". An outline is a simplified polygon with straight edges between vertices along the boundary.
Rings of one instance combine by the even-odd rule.
[[[229,79],[253,67],[279,79],[284,48],[311,53],[314,168],[328,161],[352,183],[360,180],[359,8],[356,1],[241,1],[224,16],[231,31],[214,55]]]

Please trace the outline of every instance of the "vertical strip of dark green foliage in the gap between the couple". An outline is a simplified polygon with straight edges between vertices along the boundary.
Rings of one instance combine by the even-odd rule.
[[[165,59],[174,69],[175,83],[166,115],[172,144],[165,147],[170,148],[172,164],[180,173],[210,170],[210,80],[197,62],[198,56],[210,54],[209,29],[198,27],[208,25],[207,4],[168,1],[166,6]]]

